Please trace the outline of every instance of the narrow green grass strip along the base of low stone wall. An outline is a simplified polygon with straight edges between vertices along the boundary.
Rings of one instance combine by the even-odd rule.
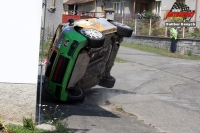
[[[200,60],[200,56],[197,56],[197,55],[190,55],[190,56],[181,55],[179,53],[171,53],[169,50],[166,50],[166,49],[159,49],[159,48],[145,46],[145,45],[131,44],[131,43],[125,43],[125,42],[122,42],[121,45],[125,46],[125,47],[129,47],[129,48],[138,49],[138,50],[141,50],[141,51],[160,54],[162,56],[168,56],[168,57],[180,58],[180,59],[187,59],[187,60]]]

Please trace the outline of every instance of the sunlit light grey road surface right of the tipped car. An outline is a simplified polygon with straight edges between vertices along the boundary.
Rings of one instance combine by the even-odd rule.
[[[200,61],[121,47],[112,74],[115,89],[133,92],[109,101],[169,133],[200,132]]]

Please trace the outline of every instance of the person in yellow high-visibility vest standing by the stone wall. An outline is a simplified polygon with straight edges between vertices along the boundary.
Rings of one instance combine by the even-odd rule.
[[[170,51],[172,53],[176,52],[176,39],[177,39],[177,36],[178,36],[177,28],[176,27],[172,27],[170,29],[170,38],[171,38]]]

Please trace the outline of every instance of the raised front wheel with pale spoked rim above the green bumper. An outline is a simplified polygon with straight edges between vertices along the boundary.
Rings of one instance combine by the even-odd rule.
[[[84,37],[87,38],[88,40],[87,47],[100,48],[104,44],[105,36],[97,30],[81,28],[79,29],[79,33],[81,33]]]

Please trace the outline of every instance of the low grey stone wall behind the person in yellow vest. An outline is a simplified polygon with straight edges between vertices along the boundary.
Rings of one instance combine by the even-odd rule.
[[[124,42],[142,44],[146,46],[170,50],[171,40],[166,37],[132,36],[124,38]],[[177,39],[177,52],[187,54],[191,50],[192,54],[200,55],[200,40],[197,39]]]

